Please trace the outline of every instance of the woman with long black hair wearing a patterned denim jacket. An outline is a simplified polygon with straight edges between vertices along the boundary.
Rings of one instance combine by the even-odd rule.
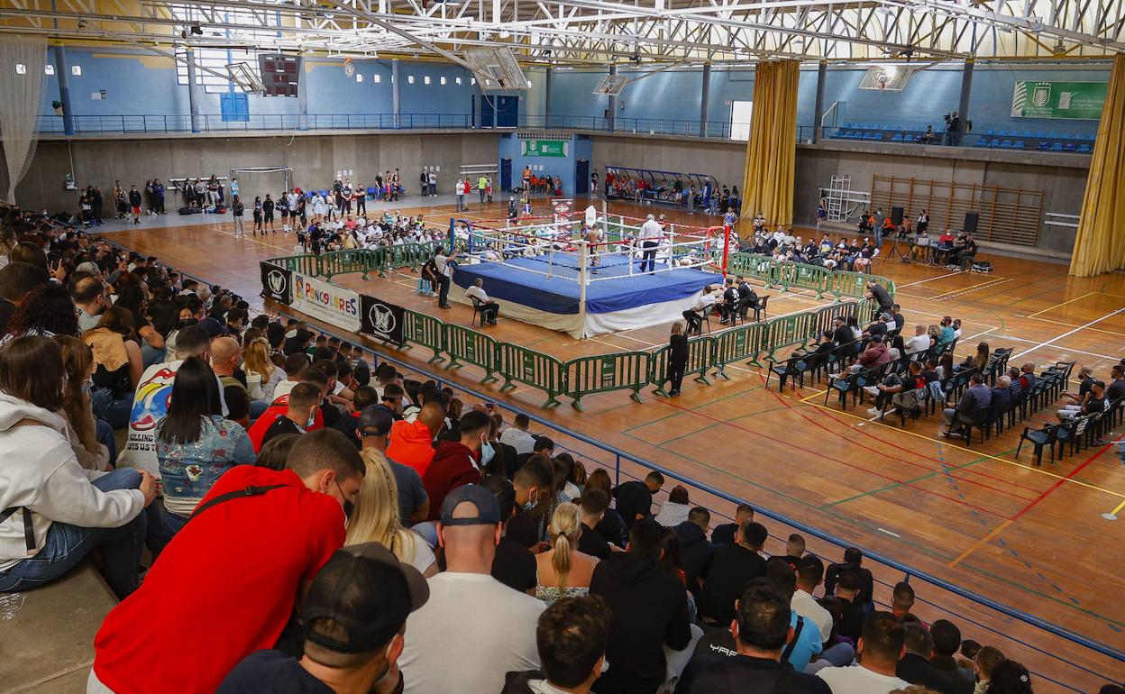
[[[199,357],[184,360],[176,372],[168,415],[156,425],[155,445],[164,495],[163,543],[183,528],[224,472],[254,462],[246,430],[219,414],[215,373]]]

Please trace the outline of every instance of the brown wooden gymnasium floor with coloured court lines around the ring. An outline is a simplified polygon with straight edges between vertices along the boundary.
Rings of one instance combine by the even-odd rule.
[[[583,206],[582,201],[576,205],[578,209]],[[404,205],[402,209],[424,214],[443,226],[452,216],[452,206],[412,209]],[[610,209],[633,216],[657,211],[619,202]],[[705,217],[659,211],[676,223],[709,224]],[[496,204],[488,208],[472,205],[471,211],[458,216],[486,219],[502,215],[502,205]],[[749,222],[740,222],[740,227],[745,235]],[[294,243],[292,236],[281,234],[235,238],[228,224],[159,229],[142,225],[109,236],[230,287],[252,303],[260,301],[258,261],[289,254]],[[889,245],[884,253],[888,250]],[[943,315],[961,317],[961,355],[984,340],[993,348],[1012,348],[1011,364],[1073,360],[1092,366],[1099,378],[1108,380],[1110,364],[1125,357],[1125,274],[1076,279],[1066,276],[1063,264],[1005,256],[989,260],[994,264],[989,276],[885,260],[876,263],[875,271],[894,279],[908,327],[916,322],[937,323]],[[406,271],[381,280],[349,276],[336,281],[444,321],[469,324],[469,308],[454,304],[449,310],[439,310],[435,299],[414,292],[416,276]],[[807,294],[766,294],[774,295],[771,317],[822,305]],[[665,343],[667,326],[577,341],[502,319],[489,333],[572,358],[657,346]],[[424,367],[429,354],[420,352],[404,354]],[[505,397],[495,385],[479,388],[752,504],[1122,649],[1125,520],[1104,517],[1125,515],[1125,469],[1115,447],[1087,449],[1061,462],[1044,461],[1038,468],[1029,450],[1015,458],[1024,424],[983,444],[974,442],[970,450],[963,441],[937,436],[939,415],[900,429],[897,420],[885,424],[871,421],[866,414],[870,404],[840,411],[835,398],[825,406],[824,391],[817,387],[778,393],[775,379],[768,389],[764,387],[760,370],[739,366],[729,372],[731,380],[717,380],[711,386],[688,382],[683,396],[670,400],[648,394],[641,404],[623,394],[591,396],[583,402],[585,413],[567,406],[544,413],[539,409],[541,394],[529,389]],[[444,373],[478,387],[479,373],[471,369]],[[1025,424],[1053,421],[1051,412],[1053,408],[1043,411]],[[1119,438],[1115,433],[1107,440]],[[708,503],[694,496],[692,501]],[[729,504],[708,505],[726,514],[734,511]],[[789,532],[773,522],[767,525],[774,535],[784,538]],[[839,551],[816,541],[810,541],[809,548],[829,557]],[[901,574],[883,576],[891,583],[901,579]],[[1045,650],[1029,650],[1015,642],[1006,647],[1036,673],[1071,685],[1060,687],[1041,681],[1037,692],[1097,691],[1105,679],[1095,673],[1123,677],[1120,664],[1108,658],[1061,639],[1044,638],[936,586],[916,584],[916,589],[920,600],[954,610],[957,616],[951,619],[968,627],[965,630],[979,640],[989,642],[989,634],[966,625],[966,620],[1027,639]],[[926,619],[948,616],[933,606],[919,605],[918,611]],[[1064,666],[1054,656],[1074,660],[1087,670]]]

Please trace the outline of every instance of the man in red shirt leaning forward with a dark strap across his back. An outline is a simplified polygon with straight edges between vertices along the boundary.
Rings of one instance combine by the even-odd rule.
[[[87,692],[210,694],[273,648],[300,595],[343,546],[366,466],[334,430],[299,436],[285,470],[235,466],[94,638]],[[159,619],[154,619],[159,615]],[[182,648],[184,643],[206,648]]]

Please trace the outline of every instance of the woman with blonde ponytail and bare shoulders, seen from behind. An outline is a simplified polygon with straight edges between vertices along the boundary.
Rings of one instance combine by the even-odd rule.
[[[564,597],[590,594],[590,578],[597,559],[578,551],[582,508],[569,502],[556,506],[547,532],[551,548],[536,556],[539,571],[536,597],[550,605]]]

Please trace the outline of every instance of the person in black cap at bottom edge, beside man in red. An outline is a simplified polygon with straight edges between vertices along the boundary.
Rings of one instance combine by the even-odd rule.
[[[260,650],[231,670],[219,694],[403,690],[406,618],[426,603],[422,574],[378,542],[336,550],[302,603],[305,655]]]

